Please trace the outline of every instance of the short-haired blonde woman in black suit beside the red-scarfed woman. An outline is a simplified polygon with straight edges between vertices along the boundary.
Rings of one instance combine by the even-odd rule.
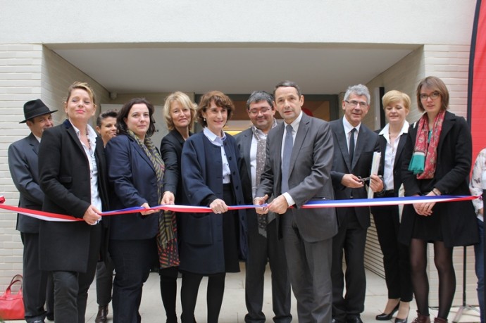
[[[409,122],[410,97],[401,91],[388,91],[382,97],[383,110],[388,120],[380,131],[380,175],[385,190],[376,197],[399,196],[401,187],[401,157],[404,151]],[[378,321],[389,321],[397,312],[395,323],[406,323],[409,316],[413,290],[410,281],[409,248],[399,243],[400,227],[398,205],[371,207],[378,241],[383,253],[383,267],[388,289],[388,302]]]

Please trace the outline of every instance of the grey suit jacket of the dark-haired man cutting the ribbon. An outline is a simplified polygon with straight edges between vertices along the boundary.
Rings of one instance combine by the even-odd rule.
[[[285,122],[267,137],[265,170],[256,196],[279,196],[282,181],[282,138]],[[328,122],[302,115],[290,158],[289,191],[295,201],[287,210],[294,217],[302,238],[308,242],[330,239],[337,233],[334,208],[301,209],[313,200],[334,199],[331,166],[334,144]],[[277,217],[278,219],[279,217]]]

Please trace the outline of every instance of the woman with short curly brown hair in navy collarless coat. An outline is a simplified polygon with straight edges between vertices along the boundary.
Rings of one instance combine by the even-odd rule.
[[[247,253],[236,141],[223,132],[234,106],[220,91],[201,98],[197,115],[202,132],[187,139],[182,148],[182,182],[190,205],[208,206],[211,213],[186,213],[180,217],[180,271],[182,272],[182,322],[194,322],[199,284],[208,277],[208,323],[218,322],[226,272],[239,272]]]

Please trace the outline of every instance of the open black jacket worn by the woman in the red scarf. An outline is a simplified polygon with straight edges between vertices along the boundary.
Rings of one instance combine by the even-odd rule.
[[[409,136],[403,153],[401,177],[404,180],[405,196],[428,194],[434,187],[443,195],[471,195],[468,179],[473,144],[466,120],[446,111],[437,146],[437,165],[433,179],[417,179],[417,176],[409,171],[417,138],[417,125],[418,122],[409,127]],[[442,234],[446,247],[478,243],[478,227],[471,201],[436,203],[432,212],[439,214],[443,219]],[[417,216],[420,215],[415,213],[413,205],[404,205],[399,232],[401,243],[409,245]]]

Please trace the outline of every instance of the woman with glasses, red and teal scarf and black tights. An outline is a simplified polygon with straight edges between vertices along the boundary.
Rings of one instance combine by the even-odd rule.
[[[437,77],[425,77],[417,87],[422,117],[409,129],[401,177],[406,196],[469,195],[471,131],[463,118],[447,111],[449,91]],[[471,201],[405,205],[399,240],[410,246],[411,278],[417,303],[416,323],[429,323],[428,243],[434,245],[439,274],[439,313],[434,322],[447,322],[456,274],[454,246],[478,242]]]

